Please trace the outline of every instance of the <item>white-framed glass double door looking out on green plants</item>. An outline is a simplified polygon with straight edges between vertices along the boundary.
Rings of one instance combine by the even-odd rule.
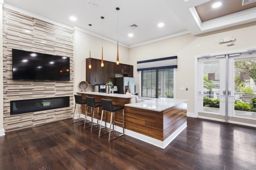
[[[198,59],[198,116],[256,125],[256,54]]]

